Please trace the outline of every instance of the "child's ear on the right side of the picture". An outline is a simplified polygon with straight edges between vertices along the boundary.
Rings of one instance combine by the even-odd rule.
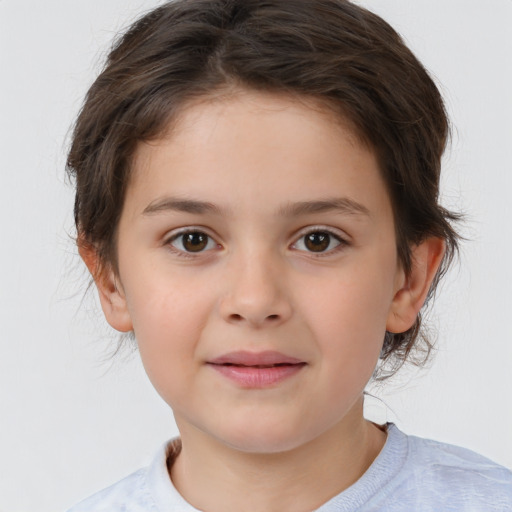
[[[412,268],[395,292],[386,330],[400,333],[410,329],[425,303],[430,285],[443,259],[445,244],[441,238],[427,238],[412,248]]]

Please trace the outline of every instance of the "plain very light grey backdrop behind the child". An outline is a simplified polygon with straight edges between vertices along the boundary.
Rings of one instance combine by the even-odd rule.
[[[70,235],[69,127],[112,38],[153,0],[0,0],[0,510],[64,510],[176,434],[134,357],[112,362]],[[512,467],[511,0],[365,0],[441,87],[443,203],[467,214],[430,319],[438,353],[367,414]]]

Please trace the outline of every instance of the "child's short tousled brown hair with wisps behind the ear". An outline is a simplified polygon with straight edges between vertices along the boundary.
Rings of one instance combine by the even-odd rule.
[[[438,204],[449,124],[433,80],[380,17],[347,0],[175,0],[114,44],[78,116],[67,169],[76,179],[79,238],[116,270],[116,227],[137,144],[159,135],[194,98],[242,87],[316,98],[377,154],[394,209],[398,258],[430,236],[457,250],[458,215]],[[430,296],[429,295],[429,296]],[[423,339],[421,317],[386,333],[392,373]]]

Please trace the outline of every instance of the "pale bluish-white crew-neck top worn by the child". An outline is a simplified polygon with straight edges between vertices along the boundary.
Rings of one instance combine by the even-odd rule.
[[[512,511],[508,469],[464,448],[407,436],[391,423],[387,431],[386,443],[366,473],[316,512]],[[166,461],[176,453],[179,440],[170,441],[150,466],[68,512],[199,512],[168,476]]]

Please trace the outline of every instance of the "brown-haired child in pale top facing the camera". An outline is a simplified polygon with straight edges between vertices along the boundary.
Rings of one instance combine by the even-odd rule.
[[[424,68],[348,1],[176,0],[132,26],[68,166],[105,316],[180,438],[73,512],[512,509],[505,468],[363,417],[457,249],[447,134]]]

